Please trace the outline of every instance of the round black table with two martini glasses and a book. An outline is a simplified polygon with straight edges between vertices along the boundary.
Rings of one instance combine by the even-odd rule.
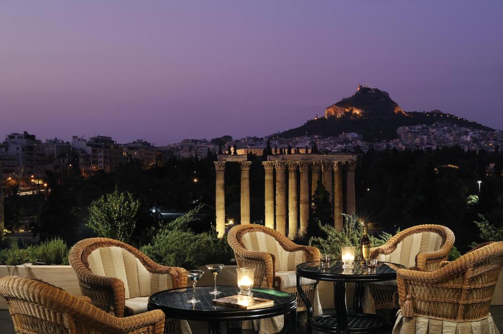
[[[201,286],[196,288],[196,298],[199,303],[187,302],[192,298],[192,288],[171,289],[159,291],[148,298],[148,309],[161,309],[167,317],[208,321],[210,334],[220,333],[219,321],[227,322],[227,333],[240,333],[241,321],[269,318],[273,316],[289,314],[289,332],[295,332],[297,322],[297,299],[286,292],[273,289],[251,289],[255,297],[274,300],[274,306],[243,310],[231,306],[217,305],[212,302],[215,298],[236,295],[239,288],[235,286],[217,286],[222,293],[216,297],[209,292],[213,286]],[[285,321],[286,323],[286,321]]]

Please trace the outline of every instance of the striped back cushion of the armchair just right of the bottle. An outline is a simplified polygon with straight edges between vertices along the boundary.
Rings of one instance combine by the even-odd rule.
[[[438,251],[442,246],[442,237],[434,232],[415,233],[405,237],[390,254],[379,254],[377,260],[398,263],[407,268],[416,265],[418,253]]]

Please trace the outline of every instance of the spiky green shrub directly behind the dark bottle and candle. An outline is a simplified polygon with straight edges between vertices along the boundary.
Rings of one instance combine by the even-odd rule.
[[[337,231],[329,225],[322,225],[318,222],[318,227],[327,237],[312,237],[309,239],[309,246],[317,247],[322,253],[332,255],[334,259],[341,259],[341,247],[358,246],[358,242],[363,235],[363,225],[356,215],[343,214],[344,222],[341,231]],[[360,249],[356,248],[355,259],[360,257]]]

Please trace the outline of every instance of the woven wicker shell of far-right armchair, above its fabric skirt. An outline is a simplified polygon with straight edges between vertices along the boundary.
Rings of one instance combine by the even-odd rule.
[[[476,320],[489,313],[503,266],[503,242],[469,252],[433,272],[398,270],[404,316],[413,314]]]

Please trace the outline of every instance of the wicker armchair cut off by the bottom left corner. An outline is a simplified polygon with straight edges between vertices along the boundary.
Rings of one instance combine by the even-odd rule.
[[[74,297],[29,278],[0,278],[0,295],[5,298],[19,334],[161,334],[164,330],[161,310],[118,318],[91,304],[87,297]]]

